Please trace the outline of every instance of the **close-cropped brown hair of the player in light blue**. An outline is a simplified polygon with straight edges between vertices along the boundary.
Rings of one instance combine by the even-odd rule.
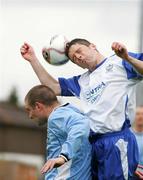
[[[57,102],[57,97],[52,89],[45,85],[34,86],[25,96],[25,101],[32,107],[35,106],[36,102],[43,103],[44,105],[50,106],[54,102]]]

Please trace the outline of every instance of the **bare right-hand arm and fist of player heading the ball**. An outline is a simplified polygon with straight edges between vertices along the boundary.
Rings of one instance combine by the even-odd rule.
[[[141,55],[141,59],[138,60],[130,56],[126,46],[119,42],[113,42],[112,50],[115,51],[117,56],[129,62],[140,74],[143,75],[143,54]]]

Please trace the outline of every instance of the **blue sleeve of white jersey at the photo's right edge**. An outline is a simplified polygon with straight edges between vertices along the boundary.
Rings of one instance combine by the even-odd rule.
[[[137,54],[137,53],[129,52],[129,55],[132,56],[133,58],[143,61],[143,53]],[[133,78],[142,79],[143,78],[143,75],[139,74],[136,71],[136,69],[126,60],[123,59],[122,64],[127,72],[128,79],[133,79]]]

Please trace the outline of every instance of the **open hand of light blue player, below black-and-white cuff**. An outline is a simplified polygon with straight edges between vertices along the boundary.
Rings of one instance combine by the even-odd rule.
[[[44,174],[47,171],[52,170],[55,167],[59,167],[65,163],[65,160],[61,157],[49,159],[41,169],[41,173]]]

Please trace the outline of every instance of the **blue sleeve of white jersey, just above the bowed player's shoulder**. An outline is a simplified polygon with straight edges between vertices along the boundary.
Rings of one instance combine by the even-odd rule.
[[[80,86],[78,83],[79,76],[73,76],[72,78],[65,79],[59,78],[59,84],[61,87],[61,96],[78,96],[80,95]]]

